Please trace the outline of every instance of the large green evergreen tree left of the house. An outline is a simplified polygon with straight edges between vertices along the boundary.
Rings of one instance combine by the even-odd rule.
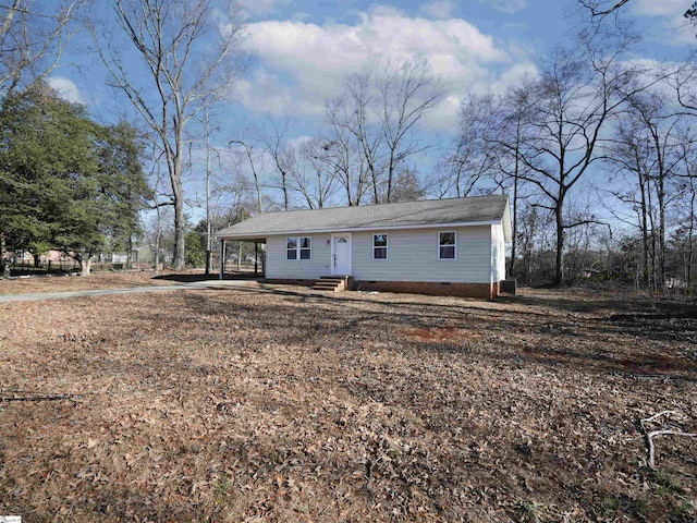
[[[59,248],[83,273],[106,238],[130,239],[149,194],[134,131],[105,127],[44,84],[0,110],[0,235],[35,259]]]

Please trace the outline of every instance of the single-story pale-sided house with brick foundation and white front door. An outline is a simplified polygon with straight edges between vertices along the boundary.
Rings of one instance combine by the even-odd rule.
[[[216,233],[266,244],[265,277],[360,290],[493,297],[511,241],[508,196],[265,212]],[[221,275],[222,276],[222,275]]]

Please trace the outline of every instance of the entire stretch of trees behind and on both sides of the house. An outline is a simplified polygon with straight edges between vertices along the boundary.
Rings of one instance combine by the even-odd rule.
[[[211,233],[258,212],[499,192],[512,203],[512,277],[690,289],[695,61],[632,60],[625,3],[579,0],[589,23],[577,39],[508,90],[467,96],[442,144],[425,123],[445,89],[426,61],[367,62],[326,100],[315,136],[271,118],[231,133],[221,114],[249,59],[232,3],[109,0],[97,15],[64,0],[39,15],[15,0],[0,11],[2,247],[58,247],[88,264],[107,243],[143,236],[148,208],[156,252],[171,235],[182,268],[188,239],[210,268]],[[85,28],[131,123],[98,124],[42,82]],[[205,194],[185,194],[187,172]],[[206,215],[195,228],[193,199]]]

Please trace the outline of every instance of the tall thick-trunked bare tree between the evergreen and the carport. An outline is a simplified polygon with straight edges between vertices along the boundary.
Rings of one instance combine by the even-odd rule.
[[[219,9],[215,0],[111,0],[111,7],[115,19],[105,24],[115,22],[140,61],[134,63],[120,52],[106,27],[98,32],[93,26],[91,34],[114,86],[162,143],[174,205],[172,265],[181,269],[186,232],[185,131],[204,107],[203,100],[229,89],[239,74],[241,28],[231,4]],[[229,16],[228,24],[220,21],[221,13]]]

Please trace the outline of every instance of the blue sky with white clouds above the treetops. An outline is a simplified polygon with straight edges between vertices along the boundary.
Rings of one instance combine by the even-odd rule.
[[[621,14],[644,34],[634,58],[683,58],[695,42],[695,28],[682,16],[690,3],[631,0]],[[244,47],[254,60],[229,93],[217,145],[269,118],[294,122],[289,138],[321,133],[325,101],[375,57],[428,62],[445,99],[423,131],[445,144],[467,93],[503,93],[534,76],[547,51],[572,44],[580,23],[576,9],[573,0],[241,0]],[[108,74],[88,47],[87,35],[78,35],[50,83],[99,120],[113,121],[132,110],[107,87]],[[189,184],[198,192],[195,179]]]

